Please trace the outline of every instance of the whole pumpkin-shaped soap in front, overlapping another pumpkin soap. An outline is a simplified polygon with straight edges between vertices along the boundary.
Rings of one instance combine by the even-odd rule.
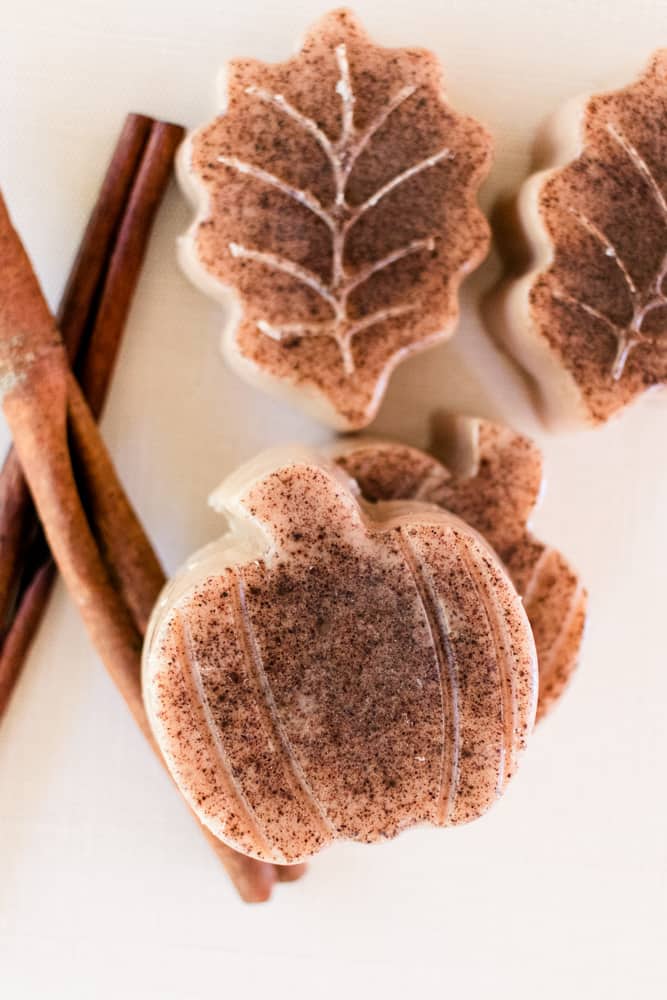
[[[144,654],[153,732],[202,821],[291,863],[483,813],[533,725],[537,673],[481,537],[433,505],[364,504],[298,450],[214,503],[228,533],[169,585]]]

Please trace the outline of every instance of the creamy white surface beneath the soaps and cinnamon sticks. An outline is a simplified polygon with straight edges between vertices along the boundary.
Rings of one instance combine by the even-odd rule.
[[[494,133],[482,202],[523,178],[566,98],[667,43],[664,0],[359,2],[377,40],[425,44]],[[233,55],[286,57],[311,2],[4,0],[0,183],[53,305],[124,114],[195,125]],[[158,219],[103,430],[167,566],[212,537],[239,461],[326,431],[226,372],[220,316],[178,272],[189,211]],[[534,434],[535,519],[591,593],[580,674],[504,800],[471,827],[335,847],[265,907],[240,904],[91,652],[61,587],[0,727],[0,995],[178,998],[667,995],[667,400],[547,436],[480,332],[403,365],[376,430],[425,440],[447,404]],[[1,291],[1,290],[0,290]],[[6,440],[3,428],[2,441]]]

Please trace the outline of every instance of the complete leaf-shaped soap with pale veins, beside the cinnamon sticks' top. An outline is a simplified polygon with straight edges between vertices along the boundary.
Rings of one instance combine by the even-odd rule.
[[[337,10],[284,63],[233,60],[224,114],[184,146],[186,272],[231,302],[251,382],[340,429],[368,424],[408,353],[446,339],[485,256],[491,142],[435,57],[374,45]]]

